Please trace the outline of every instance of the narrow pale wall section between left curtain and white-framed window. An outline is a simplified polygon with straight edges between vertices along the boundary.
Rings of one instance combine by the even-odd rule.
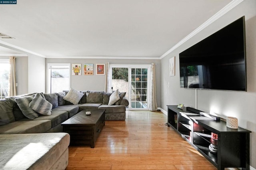
[[[45,58],[28,54],[28,93],[45,93]]]

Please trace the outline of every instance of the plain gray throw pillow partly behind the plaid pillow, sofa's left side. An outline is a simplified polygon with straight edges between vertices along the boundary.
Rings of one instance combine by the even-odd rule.
[[[34,99],[35,95],[36,94],[15,99],[23,115],[26,116],[28,119],[35,119],[39,116],[36,111],[29,107],[29,103]]]

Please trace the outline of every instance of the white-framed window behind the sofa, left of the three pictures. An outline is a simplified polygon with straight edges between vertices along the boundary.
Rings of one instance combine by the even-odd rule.
[[[48,93],[70,89],[70,63],[48,63]]]

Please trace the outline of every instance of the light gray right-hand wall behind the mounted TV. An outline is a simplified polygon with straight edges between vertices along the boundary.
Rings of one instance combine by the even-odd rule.
[[[246,20],[248,91],[197,90],[197,109],[214,112],[224,117],[237,117],[240,127],[251,130],[250,166],[256,168],[256,145],[254,144],[256,140],[256,0],[244,0],[161,60],[161,108],[167,111],[166,105],[177,105],[179,103],[196,108],[196,90],[180,88],[179,53],[241,16],[245,16]],[[169,77],[166,74],[169,69],[168,61],[173,56],[176,56],[176,76]]]

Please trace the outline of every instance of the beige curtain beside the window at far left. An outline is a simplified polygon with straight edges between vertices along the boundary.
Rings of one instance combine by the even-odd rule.
[[[8,96],[16,95],[16,62],[15,57],[10,57],[10,71],[8,82]]]

